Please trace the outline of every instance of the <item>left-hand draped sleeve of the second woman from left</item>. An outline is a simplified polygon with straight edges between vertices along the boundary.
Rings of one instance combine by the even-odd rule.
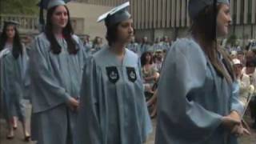
[[[42,38],[35,38],[30,54],[30,84],[34,95],[31,95],[32,103],[34,103],[34,112],[48,110],[54,106],[58,106],[70,99],[68,94],[57,81],[50,70],[46,53],[48,47],[44,44]]]

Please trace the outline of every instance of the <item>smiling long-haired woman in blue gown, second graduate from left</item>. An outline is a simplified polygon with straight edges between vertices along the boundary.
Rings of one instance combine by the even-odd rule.
[[[46,2],[46,27],[30,52],[31,134],[38,144],[74,144],[85,49],[62,0]]]

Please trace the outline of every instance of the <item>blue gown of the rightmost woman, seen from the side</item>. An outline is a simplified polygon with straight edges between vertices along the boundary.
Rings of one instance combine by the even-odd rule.
[[[220,77],[192,38],[170,48],[158,86],[156,144],[233,144],[222,116],[236,110],[238,85]]]

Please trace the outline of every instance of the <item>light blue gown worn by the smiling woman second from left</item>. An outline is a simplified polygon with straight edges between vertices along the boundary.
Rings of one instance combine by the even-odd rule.
[[[79,99],[82,69],[86,52],[80,39],[73,35],[77,54],[69,54],[64,38],[57,38],[62,47],[53,54],[44,33],[34,39],[30,52],[30,98],[33,106],[32,138],[38,144],[74,143],[77,112],[66,102]]]

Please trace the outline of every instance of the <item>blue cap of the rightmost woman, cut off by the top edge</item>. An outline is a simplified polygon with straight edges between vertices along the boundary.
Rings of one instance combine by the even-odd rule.
[[[216,0],[217,3],[230,4],[229,0]],[[194,19],[198,13],[203,10],[206,6],[214,4],[214,0],[190,0],[189,2],[189,14],[190,18]]]

